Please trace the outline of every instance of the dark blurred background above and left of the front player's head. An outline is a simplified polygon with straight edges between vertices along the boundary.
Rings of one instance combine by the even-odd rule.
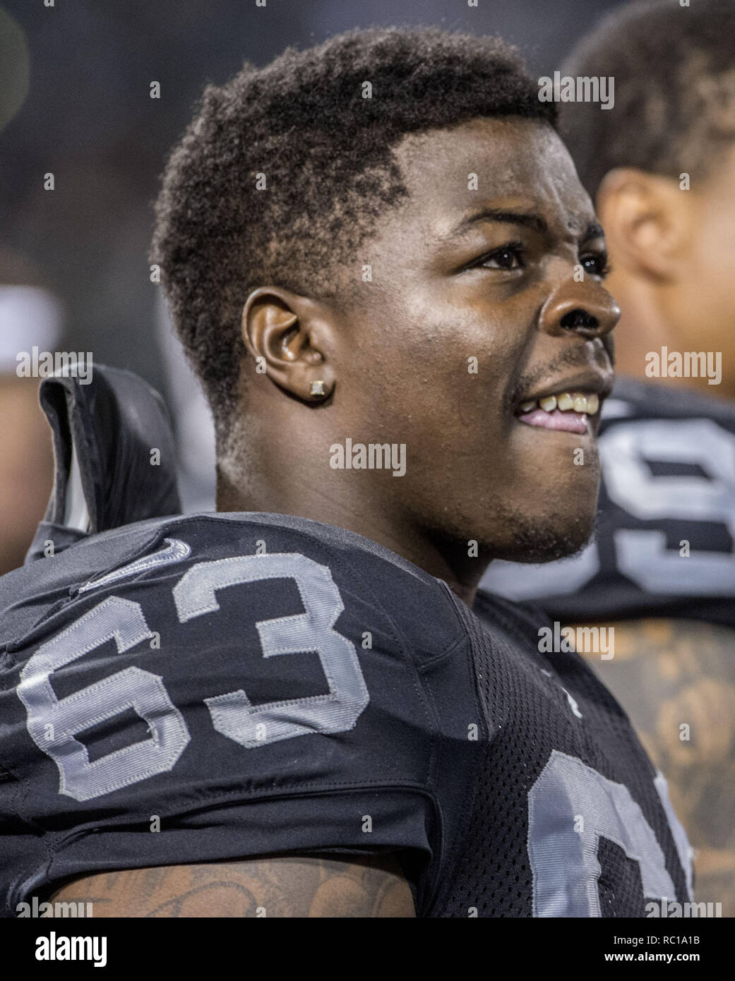
[[[0,245],[65,308],[67,350],[166,388],[151,202],[207,81],[354,26],[499,33],[558,68],[617,0],[0,0]],[[161,98],[149,84],[161,84]],[[24,97],[25,93],[25,97]],[[19,104],[20,103],[20,104]],[[15,112],[14,112],[15,111]],[[53,173],[55,190],[43,189]],[[0,277],[2,270],[0,270]]]

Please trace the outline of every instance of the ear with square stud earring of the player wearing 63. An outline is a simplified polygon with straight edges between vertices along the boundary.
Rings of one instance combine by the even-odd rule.
[[[335,325],[328,306],[280,286],[259,286],[242,308],[241,328],[253,371],[305,402],[330,397]]]

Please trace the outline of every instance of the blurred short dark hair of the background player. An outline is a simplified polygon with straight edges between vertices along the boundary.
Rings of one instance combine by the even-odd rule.
[[[615,167],[711,173],[735,138],[734,52],[734,0],[643,0],[579,42],[561,74],[615,79],[611,110],[560,107],[559,131],[593,199]]]

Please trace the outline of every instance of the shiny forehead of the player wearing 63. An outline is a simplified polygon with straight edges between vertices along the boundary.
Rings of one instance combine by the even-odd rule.
[[[545,123],[471,120],[409,134],[394,155],[409,192],[403,218],[421,216],[435,234],[495,199],[526,203],[562,234],[580,232],[594,219],[566,147]]]

